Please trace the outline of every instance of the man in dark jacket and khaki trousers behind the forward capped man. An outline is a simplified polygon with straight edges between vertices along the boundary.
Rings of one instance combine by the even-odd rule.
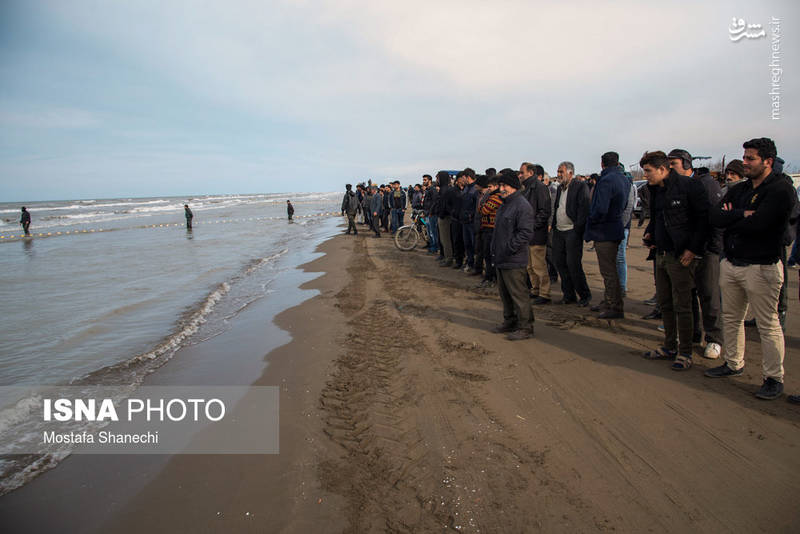
[[[541,165],[525,162],[519,167],[519,180],[524,187],[523,197],[533,210],[531,241],[528,247],[528,276],[531,280],[530,298],[534,304],[550,302],[550,275],[547,272],[547,225],[550,224],[550,189],[542,182]]]

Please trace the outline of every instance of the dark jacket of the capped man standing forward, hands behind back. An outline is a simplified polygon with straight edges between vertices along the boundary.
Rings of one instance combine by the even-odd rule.
[[[522,192],[517,191],[505,198],[495,216],[491,247],[495,266],[498,269],[527,267],[532,235],[533,208]]]

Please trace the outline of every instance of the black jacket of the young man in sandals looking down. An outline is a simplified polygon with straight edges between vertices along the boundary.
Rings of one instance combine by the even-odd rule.
[[[700,180],[683,176],[674,170],[664,180],[663,187],[650,188],[650,223],[645,234],[655,236],[656,217],[661,217],[655,207],[656,197],[664,195],[663,217],[667,234],[674,245],[675,256],[691,250],[697,256],[706,251],[711,227],[708,224],[708,196]]]

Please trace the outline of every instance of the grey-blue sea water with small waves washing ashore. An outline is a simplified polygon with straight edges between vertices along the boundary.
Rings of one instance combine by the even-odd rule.
[[[224,332],[241,310],[269,298],[282,272],[340,231],[332,214],[341,198],[32,202],[24,204],[29,238],[20,237],[22,204],[0,204],[0,386],[135,389],[179,348]],[[184,203],[194,212],[191,230]],[[0,398],[1,440],[31,431],[20,416],[26,402],[36,400]],[[29,468],[59,459],[31,458]],[[0,459],[0,494],[28,478],[21,468],[20,458]]]

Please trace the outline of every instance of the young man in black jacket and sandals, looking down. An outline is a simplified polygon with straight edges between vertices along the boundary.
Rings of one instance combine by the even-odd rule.
[[[708,198],[700,182],[670,169],[661,151],[646,152],[639,165],[651,202],[643,241],[656,251],[656,296],[664,320],[664,345],[644,357],[673,360],[672,370],[685,371],[692,366],[692,289],[708,240]]]

